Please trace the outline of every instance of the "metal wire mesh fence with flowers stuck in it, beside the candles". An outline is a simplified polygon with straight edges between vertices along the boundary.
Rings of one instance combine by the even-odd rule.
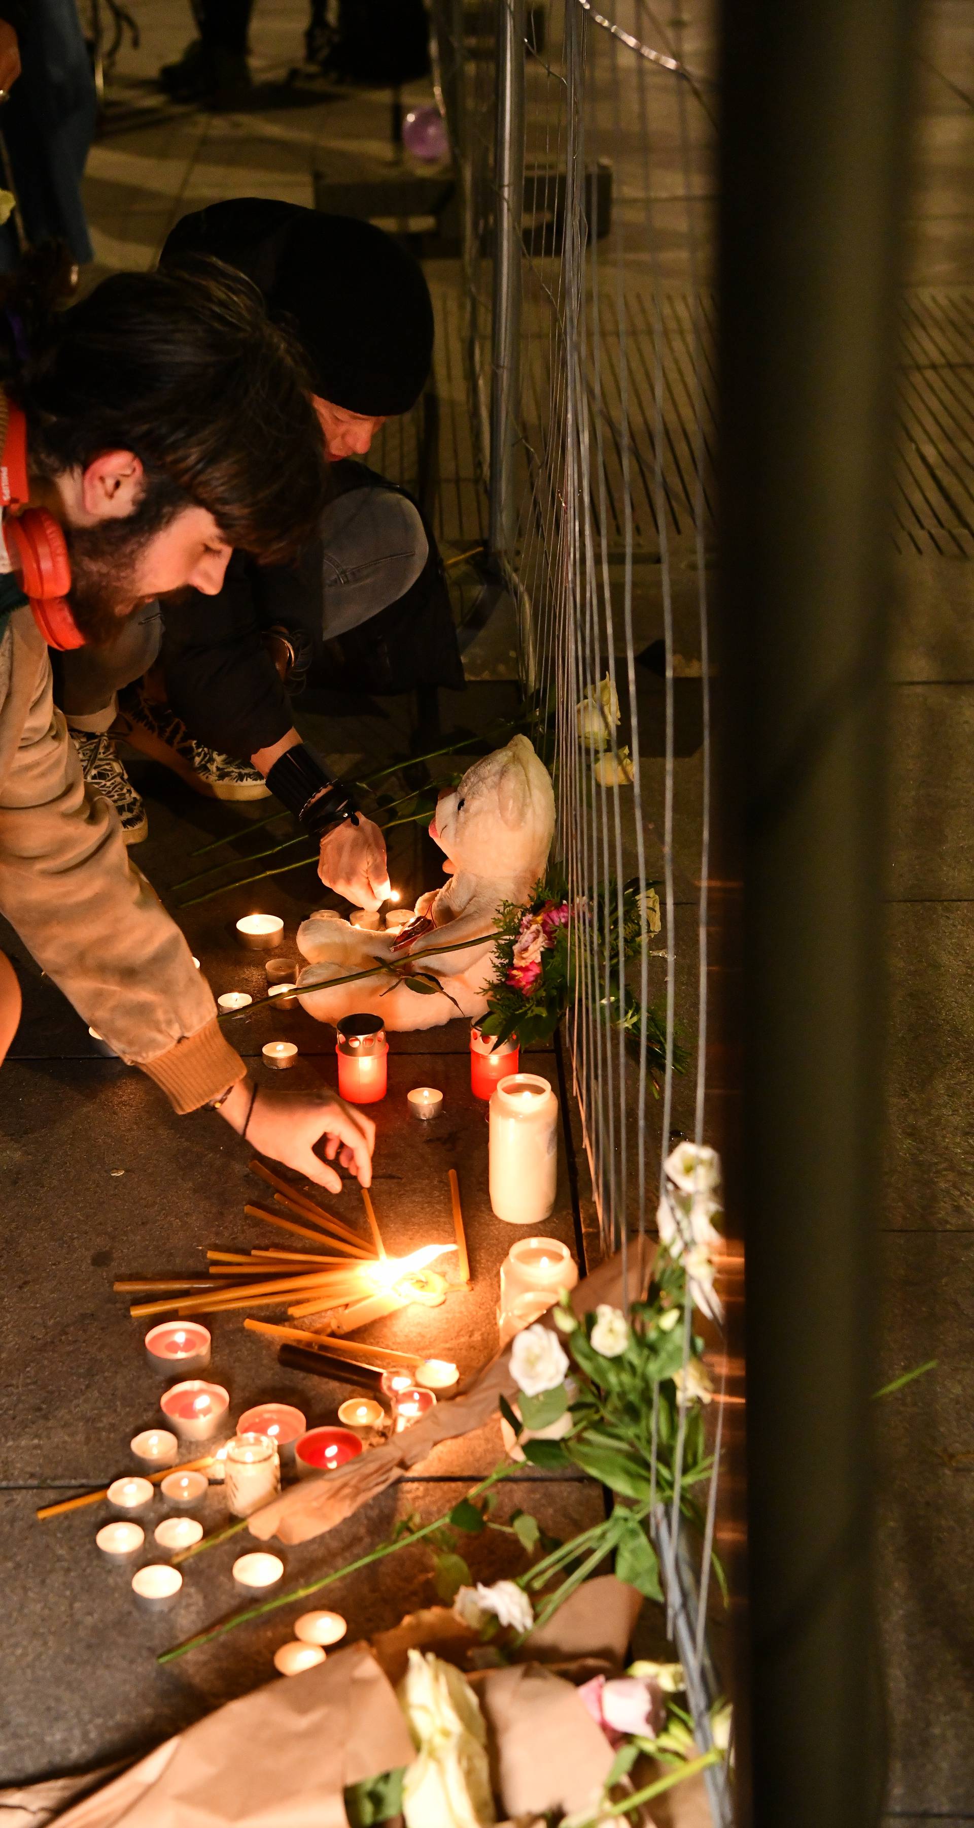
[[[588,0],[437,0],[433,20],[490,559],[554,768],[557,861],[596,910],[576,923],[568,1042],[603,1245],[627,1250],[654,1230],[672,1141],[705,1141],[709,24],[667,31],[643,0],[612,20]],[[627,883],[630,980],[612,969]],[[678,1442],[654,1537],[704,1746],[715,1501],[716,1475],[691,1568]],[[729,1823],[724,1771],[707,1780]]]

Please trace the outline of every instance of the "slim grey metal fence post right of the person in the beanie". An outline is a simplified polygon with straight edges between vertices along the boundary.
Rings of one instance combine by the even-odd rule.
[[[517,537],[521,413],[521,216],[524,207],[524,0],[497,13],[493,320],[490,375],[490,556],[510,572]]]

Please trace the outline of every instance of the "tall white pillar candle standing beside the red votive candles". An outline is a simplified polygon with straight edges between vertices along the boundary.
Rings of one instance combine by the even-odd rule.
[[[512,1073],[490,1099],[490,1205],[508,1225],[539,1225],[556,1186],[557,1099],[537,1073]]]

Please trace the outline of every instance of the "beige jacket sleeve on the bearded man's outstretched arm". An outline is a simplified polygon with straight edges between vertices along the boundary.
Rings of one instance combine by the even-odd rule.
[[[0,914],[84,1022],[177,1111],[243,1077],[210,989],[128,857],[113,808],[86,793],[29,609],[13,612],[0,640]]]

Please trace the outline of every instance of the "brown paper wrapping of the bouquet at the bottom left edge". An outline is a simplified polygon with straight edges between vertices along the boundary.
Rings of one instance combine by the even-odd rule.
[[[62,1828],[347,1828],[344,1790],[415,1759],[364,1645],[228,1702],[168,1740]]]

